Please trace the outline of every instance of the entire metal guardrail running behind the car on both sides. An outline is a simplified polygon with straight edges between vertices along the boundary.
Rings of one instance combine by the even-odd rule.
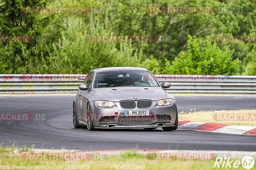
[[[238,75],[155,75],[168,81],[169,93],[256,94],[256,76]],[[86,74],[0,74],[0,93],[76,93],[78,77]]]

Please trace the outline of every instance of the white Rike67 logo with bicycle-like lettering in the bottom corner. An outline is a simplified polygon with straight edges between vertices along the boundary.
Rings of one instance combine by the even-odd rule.
[[[230,157],[216,157],[215,163],[214,163],[214,168],[237,168],[239,166],[243,166],[245,169],[251,169],[254,166],[254,159],[251,156],[245,156],[242,161],[240,160],[230,160]]]

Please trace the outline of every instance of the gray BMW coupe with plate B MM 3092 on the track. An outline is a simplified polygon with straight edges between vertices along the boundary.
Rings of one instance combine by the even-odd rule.
[[[79,77],[78,77],[79,80]],[[80,80],[79,80],[80,81]],[[146,68],[107,67],[92,70],[73,101],[74,128],[156,129],[178,127],[175,98]]]

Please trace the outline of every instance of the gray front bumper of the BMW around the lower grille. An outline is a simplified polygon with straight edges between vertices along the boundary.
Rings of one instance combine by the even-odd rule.
[[[116,106],[114,107],[98,107],[95,102],[90,102],[92,109],[92,119],[93,125],[95,128],[105,128],[105,129],[143,129],[143,128],[158,128],[158,127],[167,127],[174,126],[176,118],[176,102],[173,99],[172,104],[168,106],[158,106],[156,105],[157,101],[153,101],[151,107],[149,108],[134,108],[134,109],[124,109],[120,106],[119,102],[114,102]],[[150,116],[155,117],[154,122],[143,123],[143,124],[124,124],[120,123],[118,117],[124,116],[124,110],[149,110]],[[115,112],[118,114],[115,115]],[[168,120],[161,119],[161,116],[169,115]],[[102,117],[110,116],[113,117],[111,120],[102,120]]]

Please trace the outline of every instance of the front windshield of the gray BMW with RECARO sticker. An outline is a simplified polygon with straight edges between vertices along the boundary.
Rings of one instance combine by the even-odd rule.
[[[97,73],[94,88],[146,86],[159,87],[148,71],[110,71]]]

